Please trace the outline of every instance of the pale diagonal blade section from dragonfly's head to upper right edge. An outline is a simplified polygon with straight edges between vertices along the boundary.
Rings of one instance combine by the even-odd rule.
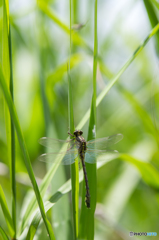
[[[112,86],[118,81],[120,76],[125,72],[125,70],[130,66],[130,64],[134,61],[134,59],[137,57],[137,55],[142,51],[144,46],[148,43],[148,41],[153,37],[157,32],[159,31],[159,24],[157,24],[150,34],[145,38],[143,43],[135,50],[133,55],[128,59],[128,61],[124,64],[124,66],[119,70],[119,72],[115,75],[115,77],[109,82],[109,84],[103,89],[103,91],[99,94],[97,97],[96,106],[98,106],[103,98],[106,96],[106,94],[109,92],[109,90],[112,88]],[[90,109],[86,112],[81,122],[78,124],[77,128],[81,129],[85,123],[88,121],[90,115]]]

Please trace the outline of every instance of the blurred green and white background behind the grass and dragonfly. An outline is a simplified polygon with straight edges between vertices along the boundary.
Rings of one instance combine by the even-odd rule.
[[[45,152],[38,139],[66,139],[68,131],[69,1],[10,1],[15,106],[38,183],[48,165],[37,157]],[[71,79],[75,125],[91,104],[93,76],[94,1],[74,1]],[[47,5],[48,4],[48,5]],[[50,13],[50,14],[49,14]],[[54,16],[54,17],[53,17]],[[55,18],[56,16],[56,18]],[[97,93],[109,83],[158,22],[157,1],[98,1],[98,51],[105,64],[98,64]],[[0,46],[2,46],[2,1],[0,1]],[[57,20],[60,20],[59,22]],[[75,25],[75,24],[82,24]],[[81,28],[80,28],[81,27]],[[77,36],[80,36],[78,38]],[[115,146],[159,170],[159,34],[150,39],[135,61],[111,88],[97,108],[97,137],[122,133]],[[2,64],[2,47],[0,48]],[[45,104],[44,104],[45,103]],[[88,122],[82,129],[87,137]],[[0,89],[0,184],[8,206],[11,187]],[[31,183],[16,141],[17,221]],[[146,174],[149,174],[148,172]],[[70,177],[69,167],[54,176],[53,192]],[[95,239],[129,239],[129,231],[159,235],[159,193],[146,184],[135,166],[116,159],[97,172]],[[81,191],[81,190],[80,190]],[[60,200],[57,205],[62,206]],[[70,201],[70,195],[64,196]],[[68,204],[69,205],[69,204]],[[56,206],[55,206],[56,207]],[[54,215],[56,216],[53,208]],[[63,223],[54,218],[57,239],[71,239],[69,209]],[[51,212],[48,213],[51,218]],[[67,222],[68,235],[61,238],[60,224]],[[0,225],[7,231],[0,209]],[[48,239],[43,223],[37,239]],[[59,235],[58,235],[59,234]],[[145,239],[145,237],[136,237]],[[150,239],[153,237],[147,237]],[[154,237],[159,239],[159,237]],[[0,238],[2,239],[2,238]],[[135,238],[134,238],[135,239]]]

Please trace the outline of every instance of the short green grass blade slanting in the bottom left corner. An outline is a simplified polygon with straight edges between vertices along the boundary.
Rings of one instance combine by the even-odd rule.
[[[9,229],[10,236],[14,236],[13,221],[12,221],[12,218],[11,218],[8,206],[7,206],[7,202],[5,199],[5,195],[4,195],[4,192],[3,192],[3,189],[1,186],[0,186],[0,204],[2,207],[2,211],[4,214],[8,229]]]

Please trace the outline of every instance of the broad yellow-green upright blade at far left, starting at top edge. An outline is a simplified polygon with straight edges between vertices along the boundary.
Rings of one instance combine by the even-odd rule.
[[[11,35],[9,29],[9,3],[3,1],[3,37],[2,37],[2,49],[3,49],[3,72],[5,75],[8,91],[10,90],[13,99],[13,73],[12,73],[12,53],[11,53]],[[11,175],[11,187],[12,187],[12,218],[13,227],[12,237],[16,238],[16,183],[15,183],[15,135],[13,122],[10,119],[10,113],[5,107],[5,126],[7,136],[7,154]],[[2,191],[2,189],[1,189]],[[9,216],[9,215],[8,215]]]

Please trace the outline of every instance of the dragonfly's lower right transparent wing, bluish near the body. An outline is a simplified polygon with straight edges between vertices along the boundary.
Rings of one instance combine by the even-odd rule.
[[[85,153],[85,162],[96,163],[99,161],[107,161],[117,158],[118,151],[116,150],[87,150]]]

